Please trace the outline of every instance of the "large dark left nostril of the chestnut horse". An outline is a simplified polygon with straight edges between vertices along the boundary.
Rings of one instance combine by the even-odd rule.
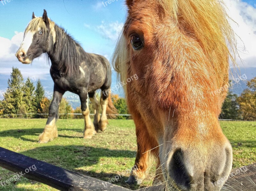
[[[174,182],[182,189],[187,190],[190,187],[190,178],[183,161],[181,150],[174,152],[169,164],[169,175]]]

